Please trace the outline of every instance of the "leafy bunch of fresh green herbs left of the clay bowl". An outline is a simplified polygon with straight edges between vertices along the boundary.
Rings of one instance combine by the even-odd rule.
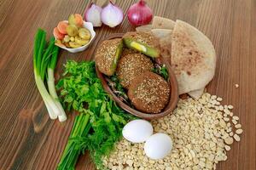
[[[96,77],[95,63],[67,61],[64,78],[56,88],[68,111],[78,111],[73,130],[58,169],[74,169],[79,154],[90,150],[96,167],[103,169],[102,156],[108,156],[121,137],[125,123],[132,119],[105,93]]]

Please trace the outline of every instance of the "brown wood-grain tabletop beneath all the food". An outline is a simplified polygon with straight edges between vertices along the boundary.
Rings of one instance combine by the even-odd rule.
[[[134,0],[117,0],[126,12]],[[38,27],[51,34],[59,20],[84,14],[86,0],[0,1],[0,169],[55,169],[73,125],[51,121],[36,88],[32,68],[33,37]],[[256,1],[255,0],[148,0],[154,14],[184,20],[209,37],[218,55],[216,76],[208,92],[234,105],[244,133],[232,144],[222,170],[256,169]],[[67,59],[93,59],[102,38],[132,31],[127,16],[114,29],[96,29],[96,40],[79,54],[61,51],[56,78]],[[239,88],[235,84],[239,84]],[[77,169],[94,169],[88,154]]]

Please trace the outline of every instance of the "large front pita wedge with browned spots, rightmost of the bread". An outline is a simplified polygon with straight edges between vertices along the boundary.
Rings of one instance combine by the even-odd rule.
[[[212,42],[194,26],[177,20],[172,31],[171,64],[179,94],[204,88],[212,80],[216,66]]]

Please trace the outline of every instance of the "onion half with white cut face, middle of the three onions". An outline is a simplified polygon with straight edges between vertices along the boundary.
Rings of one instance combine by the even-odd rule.
[[[102,9],[102,22],[110,27],[118,26],[124,18],[121,8],[109,1],[108,5]]]

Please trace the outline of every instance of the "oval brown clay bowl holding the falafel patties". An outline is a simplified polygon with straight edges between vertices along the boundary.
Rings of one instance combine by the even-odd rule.
[[[106,37],[105,40],[117,38],[117,37],[123,37],[123,33],[116,33],[112,34],[109,37]],[[105,89],[105,91],[110,94],[113,97],[113,100],[125,111],[131,113],[134,116],[141,117],[146,120],[152,120],[152,119],[158,119],[160,117],[166,116],[168,114],[171,114],[172,111],[176,108],[177,100],[178,100],[178,93],[177,93],[177,80],[176,77],[172,71],[171,65],[166,61],[166,59],[159,58],[156,61],[159,64],[165,64],[166,68],[169,72],[169,83],[171,87],[171,94],[170,94],[170,101],[166,105],[166,108],[157,114],[148,114],[141,111],[137,111],[133,108],[131,108],[129,105],[126,105],[123,101],[121,101],[112,91],[112,89],[108,86],[108,82],[105,79],[105,76],[100,72],[96,66],[96,74],[97,77],[99,77],[102,81],[102,86]]]

